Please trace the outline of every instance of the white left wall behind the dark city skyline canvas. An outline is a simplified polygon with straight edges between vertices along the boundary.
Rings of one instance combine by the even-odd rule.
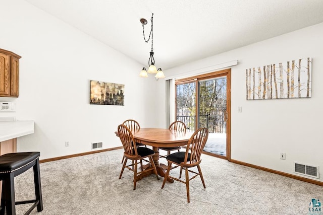
[[[41,159],[121,146],[118,124],[134,118],[156,126],[155,83],[142,79],[141,64],[21,0],[0,7],[0,48],[20,59],[18,120],[35,120],[35,132],[17,139],[17,151],[40,151]],[[90,80],[125,84],[125,105],[90,105]],[[70,141],[70,147],[65,147]]]

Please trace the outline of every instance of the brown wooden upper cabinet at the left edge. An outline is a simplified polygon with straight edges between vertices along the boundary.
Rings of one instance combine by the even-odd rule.
[[[0,97],[19,96],[19,59],[21,56],[0,49]]]

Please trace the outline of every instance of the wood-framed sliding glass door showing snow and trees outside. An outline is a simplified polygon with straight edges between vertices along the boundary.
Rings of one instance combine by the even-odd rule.
[[[206,154],[230,160],[230,74],[226,69],[176,80],[176,120],[209,131]]]

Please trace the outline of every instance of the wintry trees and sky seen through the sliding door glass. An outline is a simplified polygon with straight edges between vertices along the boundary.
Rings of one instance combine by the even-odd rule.
[[[227,82],[213,79],[199,83],[198,127],[209,132],[226,132]],[[190,130],[195,129],[195,82],[176,86],[176,117]]]

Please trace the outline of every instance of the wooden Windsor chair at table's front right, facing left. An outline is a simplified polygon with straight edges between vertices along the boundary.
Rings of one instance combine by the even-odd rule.
[[[197,129],[191,136],[188,141],[186,152],[176,152],[166,157],[168,161],[168,168],[164,178],[163,186],[164,188],[165,182],[168,178],[174,179],[176,181],[180,181],[186,184],[186,193],[187,193],[187,202],[190,202],[190,190],[189,190],[189,181],[195,178],[196,176],[200,176],[202,180],[203,187],[205,187],[202,171],[200,168],[201,163],[201,154],[206,144],[206,140],[208,137],[207,128],[199,128]],[[175,166],[172,167],[172,164]],[[170,176],[170,171],[177,167],[181,167],[179,178]],[[198,172],[196,170],[192,170],[190,168],[197,167]],[[185,181],[181,180],[182,170],[185,169]],[[193,176],[189,178],[189,173],[193,173]],[[192,175],[192,174],[191,174]]]

